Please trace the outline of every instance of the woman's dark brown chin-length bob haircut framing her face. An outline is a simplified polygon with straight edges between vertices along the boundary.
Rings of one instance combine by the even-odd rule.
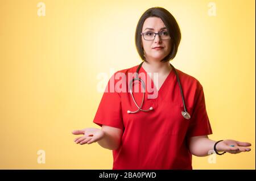
[[[180,40],[181,40],[180,28],[179,28],[179,25],[177,24],[174,16],[172,16],[172,14],[169,11],[167,11],[166,9],[164,9],[162,7],[151,7],[150,9],[146,10],[143,13],[143,15],[141,16],[141,18],[139,19],[139,22],[136,27],[136,32],[135,32],[135,45],[136,45],[137,51],[139,53],[139,56],[142,58],[142,60],[146,61],[146,59],[144,58],[144,50],[142,47],[141,33],[142,33],[143,23],[149,17],[161,18],[164,25],[167,28],[169,35],[171,36],[171,41],[170,41],[171,51],[161,61],[167,62],[167,61],[174,59],[174,57],[176,56],[176,53],[177,53],[177,49],[180,44]]]

